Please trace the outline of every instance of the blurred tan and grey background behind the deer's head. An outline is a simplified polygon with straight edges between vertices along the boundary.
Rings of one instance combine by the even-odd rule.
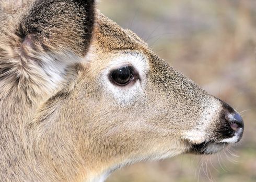
[[[218,155],[138,163],[107,181],[256,181],[256,1],[102,0],[98,7],[245,121],[242,140]]]

